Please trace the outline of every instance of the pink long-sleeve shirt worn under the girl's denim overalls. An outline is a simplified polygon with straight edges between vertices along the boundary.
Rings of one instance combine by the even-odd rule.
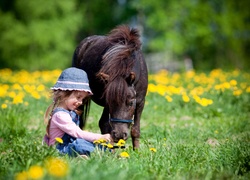
[[[93,142],[102,138],[101,134],[83,131],[73,121],[69,113],[58,111],[53,114],[50,121],[49,138],[45,135],[44,141],[49,145],[54,145],[56,137],[62,138],[64,133],[75,138],[82,138]]]

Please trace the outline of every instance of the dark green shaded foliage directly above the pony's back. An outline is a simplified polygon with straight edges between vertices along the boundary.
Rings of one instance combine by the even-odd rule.
[[[81,23],[77,40],[91,35],[106,35],[120,24],[129,24],[136,10],[130,6],[133,0],[78,0],[78,11],[84,21]]]

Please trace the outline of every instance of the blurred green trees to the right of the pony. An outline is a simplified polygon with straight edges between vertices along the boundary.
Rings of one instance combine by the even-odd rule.
[[[136,0],[148,51],[189,57],[198,68],[250,67],[250,1]]]

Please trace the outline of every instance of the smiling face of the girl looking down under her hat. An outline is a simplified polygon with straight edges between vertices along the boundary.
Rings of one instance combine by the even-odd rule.
[[[61,104],[67,110],[76,110],[80,105],[82,105],[82,100],[88,96],[85,91],[74,91],[70,94],[68,98],[65,99]]]

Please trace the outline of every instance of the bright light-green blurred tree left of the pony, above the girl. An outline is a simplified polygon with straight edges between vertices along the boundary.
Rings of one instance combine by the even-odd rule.
[[[70,65],[81,21],[74,0],[1,0],[0,68]]]

